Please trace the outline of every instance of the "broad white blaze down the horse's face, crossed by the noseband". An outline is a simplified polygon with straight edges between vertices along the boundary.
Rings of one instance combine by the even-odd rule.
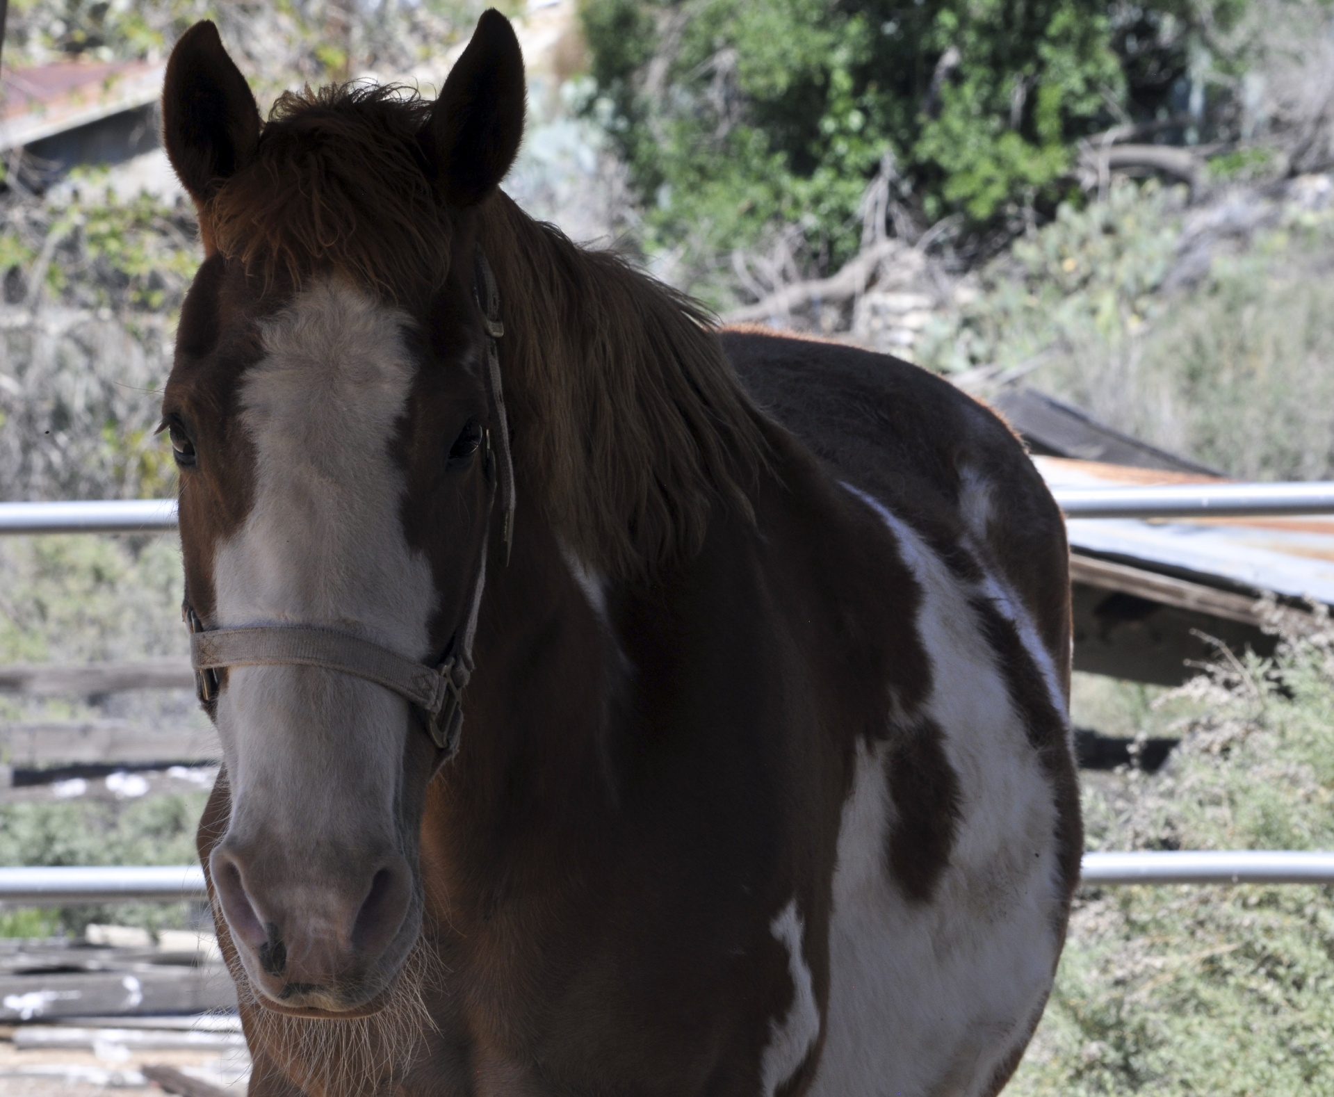
[[[260,326],[264,356],[240,391],[253,506],[216,550],[219,627],[327,626],[427,655],[435,585],[404,539],[391,456],[416,368],[404,323],[329,280]],[[233,667],[217,726],[233,834],[261,827],[269,846],[320,834],[348,850],[396,841],[403,698],[316,667]]]

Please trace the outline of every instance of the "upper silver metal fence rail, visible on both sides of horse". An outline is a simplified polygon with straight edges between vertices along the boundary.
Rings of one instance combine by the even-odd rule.
[[[1262,518],[1334,514],[1334,483],[1057,487],[1070,518]],[[0,534],[143,534],[176,528],[175,499],[0,503]]]

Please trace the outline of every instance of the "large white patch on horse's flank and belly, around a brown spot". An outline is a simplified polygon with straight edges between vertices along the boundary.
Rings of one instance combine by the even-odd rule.
[[[830,1004],[811,1094],[975,1097],[1027,1038],[1051,985],[1062,902],[1054,790],[978,629],[975,591],[911,526],[848,491],[894,532],[922,587],[916,625],[932,686],[919,715],[940,731],[960,818],[931,899],[910,899],[886,857],[898,819],[887,779],[896,730],[872,747],[859,743],[838,839]]]

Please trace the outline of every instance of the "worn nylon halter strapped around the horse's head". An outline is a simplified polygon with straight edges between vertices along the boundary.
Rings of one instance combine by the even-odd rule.
[[[482,593],[487,583],[487,550],[491,540],[491,515],[500,496],[500,534],[504,559],[510,559],[514,538],[514,459],[510,452],[510,423],[506,416],[504,392],[500,387],[500,352],[496,340],[504,335],[500,319],[500,292],[486,256],[478,252],[474,296],[482,310],[486,328],[486,388],[491,415],[496,424],[499,452],[491,448],[491,432],[484,435],[484,460],[491,491],[487,502],[487,524],[482,536],[482,554],[472,579],[468,615],[462,630],[450,641],[448,654],[436,666],[419,663],[383,645],[362,639],[338,629],[304,625],[257,625],[248,629],[204,629],[199,614],[187,602],[183,607],[189,626],[189,657],[195,667],[195,689],[200,703],[217,697],[217,670],[231,666],[315,666],[336,670],[375,682],[399,694],[422,710],[431,741],[446,761],[459,750],[463,729],[463,690],[472,677],[472,642],[478,631]]]

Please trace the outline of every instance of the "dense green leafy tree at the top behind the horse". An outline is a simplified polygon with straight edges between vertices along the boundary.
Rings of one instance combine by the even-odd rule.
[[[583,0],[582,17],[592,105],[656,243],[798,224],[824,266],[855,251],[882,163],[927,222],[1050,214],[1078,139],[1193,105],[1246,3]]]

